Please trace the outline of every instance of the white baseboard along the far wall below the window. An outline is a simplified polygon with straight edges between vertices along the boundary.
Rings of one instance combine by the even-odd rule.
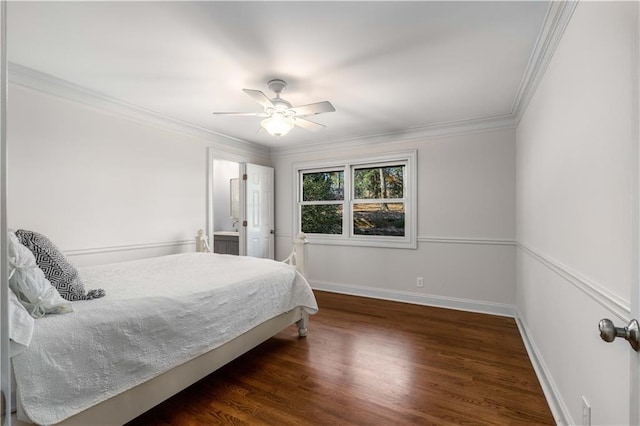
[[[483,314],[515,317],[516,307],[500,303],[490,303],[478,300],[458,299],[454,297],[436,296],[431,294],[411,293],[397,290],[387,290],[375,287],[342,284],[326,281],[309,280],[314,290],[329,291],[331,293],[348,294],[351,296],[371,297],[373,299],[392,300],[416,305],[435,306],[439,308],[456,309],[459,311],[479,312]]]

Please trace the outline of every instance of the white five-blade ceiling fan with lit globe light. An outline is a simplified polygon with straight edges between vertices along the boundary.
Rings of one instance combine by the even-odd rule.
[[[275,98],[269,99],[260,90],[242,89],[247,95],[262,105],[264,112],[214,112],[213,114],[265,117],[260,123],[262,128],[269,132],[270,135],[280,137],[289,133],[289,130],[291,130],[293,126],[318,131],[325,126],[311,121],[306,117],[336,110],[333,105],[331,105],[331,102],[328,101],[294,107],[280,97],[280,93],[287,87],[286,81],[274,79],[270,80],[267,85],[269,89],[276,94]]]

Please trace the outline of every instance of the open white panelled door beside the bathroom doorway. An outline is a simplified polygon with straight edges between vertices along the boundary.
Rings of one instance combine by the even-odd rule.
[[[240,235],[240,253],[273,259],[275,257],[273,168],[251,163],[243,163],[241,168],[244,191],[240,193],[245,208],[242,223],[244,232]]]

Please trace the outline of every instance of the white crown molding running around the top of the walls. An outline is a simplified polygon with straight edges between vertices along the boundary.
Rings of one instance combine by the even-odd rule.
[[[253,155],[269,158],[357,148],[373,144],[408,141],[424,141],[442,136],[478,133],[489,130],[517,127],[526,106],[551,61],[556,47],[566,29],[578,1],[551,1],[545,20],[529,57],[513,106],[508,114],[436,123],[395,132],[365,134],[356,137],[333,139],[315,144],[289,147],[266,146],[218,133],[155,111],[148,110],[108,95],[92,91],[66,80],[45,74],[15,63],[9,63],[9,82],[45,93],[90,105],[124,118],[151,125],[163,130],[197,137],[211,143],[212,147],[237,155]]]

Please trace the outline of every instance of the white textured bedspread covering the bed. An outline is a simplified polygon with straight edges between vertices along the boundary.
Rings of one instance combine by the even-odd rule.
[[[293,267],[264,259],[187,253],[79,270],[85,288],[106,296],[38,319],[13,360],[36,423],[60,422],[297,306],[318,308]]]

